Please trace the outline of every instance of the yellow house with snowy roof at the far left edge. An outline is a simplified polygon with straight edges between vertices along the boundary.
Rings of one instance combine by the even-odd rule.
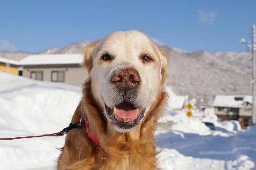
[[[18,75],[18,61],[0,57],[0,72]]]

